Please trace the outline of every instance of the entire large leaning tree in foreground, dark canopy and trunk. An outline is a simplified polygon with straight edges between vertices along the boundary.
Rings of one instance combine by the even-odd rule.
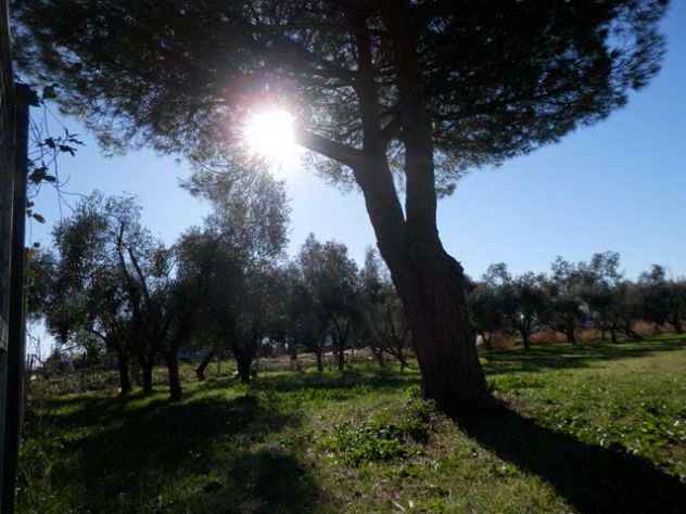
[[[488,394],[437,197],[469,168],[623,105],[658,70],[666,4],[22,0],[14,12],[20,64],[56,81],[111,146],[201,158],[255,105],[288,104],[321,170],[361,189],[424,394],[450,409]]]

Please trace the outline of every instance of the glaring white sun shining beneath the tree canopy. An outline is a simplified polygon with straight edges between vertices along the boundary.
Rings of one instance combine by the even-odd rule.
[[[243,137],[251,153],[271,163],[292,162],[300,153],[293,134],[293,116],[280,107],[253,113],[245,123]]]

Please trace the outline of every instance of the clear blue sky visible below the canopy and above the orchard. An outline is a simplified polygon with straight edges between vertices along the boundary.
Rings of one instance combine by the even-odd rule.
[[[585,260],[612,249],[622,254],[630,278],[653,262],[686,275],[685,26],[686,0],[674,0],[664,21],[663,69],[628,106],[557,145],[472,172],[441,202],[441,236],[468,273],[480,277],[497,261],[514,272],[547,271],[557,255]],[[71,177],[66,189],[138,195],[143,221],[167,243],[201,222],[207,206],[178,188],[190,172],[186,165],[148,151],[105,158],[76,120],[64,123],[87,143],[61,162]],[[306,169],[291,172],[287,183],[291,253],[315,232],[345,243],[361,262],[374,243],[361,196],[341,194]],[[59,218],[49,189],[37,205],[49,223]],[[31,227],[31,242],[49,244],[49,224]]]

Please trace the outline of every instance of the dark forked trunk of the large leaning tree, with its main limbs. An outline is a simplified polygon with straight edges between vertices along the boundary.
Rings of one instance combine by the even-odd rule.
[[[310,150],[348,165],[363,190],[381,256],[401,296],[421,371],[427,398],[457,412],[490,399],[467,310],[461,266],[443,248],[436,224],[436,191],[431,120],[417,59],[418,34],[409,2],[382,2],[384,25],[392,34],[401,99],[395,132],[405,150],[405,209],[401,206],[386,157],[389,129],[382,127],[374,81],[371,36],[361,9],[347,9],[357,46],[363,150],[350,151],[317,137]]]

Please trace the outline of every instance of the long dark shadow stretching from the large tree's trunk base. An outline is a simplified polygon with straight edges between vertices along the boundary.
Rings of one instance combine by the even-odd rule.
[[[545,428],[503,403],[454,419],[484,448],[549,483],[579,512],[686,512],[686,485],[621,449]]]

